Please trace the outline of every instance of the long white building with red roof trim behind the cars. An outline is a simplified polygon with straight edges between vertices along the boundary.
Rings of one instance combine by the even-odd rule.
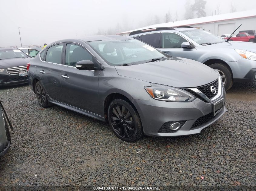
[[[240,24],[242,25],[241,27],[239,27],[235,34],[237,34],[239,30],[256,30],[256,9],[194,18],[183,21],[154,24],[135,30],[143,30],[156,27],[191,26],[194,28],[200,28],[202,30],[209,31],[217,36],[220,36],[222,34],[231,34]],[[117,35],[128,36],[130,32],[135,30],[117,33]]]

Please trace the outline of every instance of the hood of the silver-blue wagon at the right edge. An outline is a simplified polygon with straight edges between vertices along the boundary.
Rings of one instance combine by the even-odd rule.
[[[251,52],[256,52],[256,43],[249,43],[249,42],[241,42],[241,41],[228,41],[223,43],[217,43],[212,45],[206,45],[211,47],[220,47],[220,48],[233,48],[233,49],[241,49],[241,50],[248,50]]]

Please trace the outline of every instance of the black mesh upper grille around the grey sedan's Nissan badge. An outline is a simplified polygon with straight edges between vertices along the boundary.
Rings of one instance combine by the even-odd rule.
[[[204,85],[204,86],[199,86],[196,87],[199,91],[201,91],[204,95],[206,95],[209,99],[213,98],[214,96],[216,96],[216,94],[211,93],[211,86],[214,86],[216,88],[216,94],[218,92],[219,89],[219,83],[218,83],[218,79],[215,80],[214,82]],[[194,95],[195,97],[199,98],[202,101],[206,101],[204,100],[204,98],[202,98],[201,96],[199,96],[197,93],[195,93],[194,91],[185,88],[184,90],[188,91],[189,93],[191,93],[192,95]]]

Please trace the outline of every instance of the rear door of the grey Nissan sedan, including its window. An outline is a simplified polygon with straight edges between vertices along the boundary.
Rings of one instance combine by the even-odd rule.
[[[56,101],[62,101],[60,69],[62,67],[63,43],[48,47],[38,72],[40,80],[48,96]]]

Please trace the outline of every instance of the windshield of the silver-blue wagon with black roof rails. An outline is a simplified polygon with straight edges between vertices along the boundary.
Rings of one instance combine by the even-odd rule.
[[[200,30],[200,29],[185,30],[181,32],[187,35],[188,37],[190,37],[192,40],[194,40],[198,44],[208,44],[208,43],[216,44],[216,43],[222,43],[225,41],[222,38],[217,37],[212,33],[209,33],[207,31]]]

